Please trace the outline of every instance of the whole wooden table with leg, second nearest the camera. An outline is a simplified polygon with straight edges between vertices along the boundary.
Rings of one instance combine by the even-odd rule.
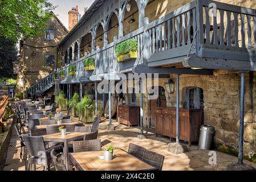
[[[67,132],[67,135],[62,136],[61,133],[55,133],[50,135],[43,135],[43,140],[45,142],[61,142],[64,143],[63,148],[63,156],[64,156],[64,164],[66,165],[67,169],[69,167],[69,160],[68,160],[68,142],[83,139],[84,135],[88,133],[76,133],[76,132]]]

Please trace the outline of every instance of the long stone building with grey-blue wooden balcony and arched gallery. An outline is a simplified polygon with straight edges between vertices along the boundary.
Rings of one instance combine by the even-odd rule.
[[[255,159],[255,9],[255,0],[94,1],[59,44],[65,65],[57,72],[66,72],[61,84],[66,85],[69,98],[74,90],[82,97],[95,91],[102,78],[117,83],[120,73],[157,73],[156,100],[149,100],[149,93],[124,94],[126,104],[143,110],[144,127],[156,128],[159,106],[177,107],[178,103],[180,109],[201,109],[203,123],[216,130],[214,146],[233,154],[238,154],[244,98],[244,155]],[[137,40],[137,59],[118,63],[115,47],[127,39]],[[88,57],[95,59],[94,71],[84,71]],[[68,75],[70,65],[76,66],[75,76]],[[166,89],[169,80],[175,82],[173,93]],[[97,94],[97,111],[111,106],[108,96],[116,95]]]

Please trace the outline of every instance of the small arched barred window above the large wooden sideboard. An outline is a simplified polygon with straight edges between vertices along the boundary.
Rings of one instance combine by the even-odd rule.
[[[198,87],[188,88],[186,103],[188,109],[204,109],[204,90]]]

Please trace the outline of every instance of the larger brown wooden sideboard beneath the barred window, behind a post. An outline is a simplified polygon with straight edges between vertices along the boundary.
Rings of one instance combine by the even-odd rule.
[[[156,107],[156,135],[162,134],[176,138],[176,107]],[[198,142],[203,123],[203,110],[180,109],[180,139]]]

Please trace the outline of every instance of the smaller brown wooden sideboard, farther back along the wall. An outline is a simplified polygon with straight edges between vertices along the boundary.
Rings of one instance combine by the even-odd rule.
[[[140,107],[136,105],[119,105],[117,121],[129,127],[138,126],[140,123]]]

